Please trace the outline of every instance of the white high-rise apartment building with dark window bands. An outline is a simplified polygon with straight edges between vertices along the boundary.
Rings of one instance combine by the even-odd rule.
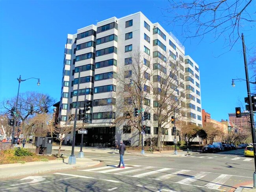
[[[98,22],[96,26],[90,25],[79,29],[74,35],[68,34],[59,120],[61,125],[65,125],[69,116],[75,114],[77,95],[78,107],[81,111],[83,111],[85,99],[91,101],[90,110],[86,114],[88,123],[82,125],[82,120],[77,120],[77,128],[85,126],[83,129],[86,128],[88,131],[88,134],[84,135],[85,145],[111,146],[115,140],[124,140],[127,145],[139,144],[138,130],[131,131],[124,124],[120,126],[115,124],[116,115],[119,114],[116,113],[115,105],[123,102],[117,99],[120,87],[117,74],[124,73],[122,70],[130,62],[131,53],[138,50],[147,57],[152,57],[150,64],[144,59],[144,64],[149,65],[152,71],[155,68],[162,69],[160,65],[155,65],[155,57],[159,57],[165,63],[169,62],[161,54],[163,52],[173,60],[179,61],[176,75],[184,80],[184,84],[177,88],[179,90],[176,90],[176,95],[183,95],[186,101],[184,107],[187,107],[186,113],[182,116],[188,123],[202,126],[200,74],[197,63],[191,57],[185,56],[184,46],[172,33],[167,33],[160,24],[150,22],[143,13],[138,12],[122,18],[112,17]],[[150,120],[147,120],[146,139],[157,137],[157,127],[155,127],[157,122],[153,118],[152,92],[147,96]],[[74,120],[69,124],[74,125]],[[165,131],[166,142],[173,142],[172,132],[171,128]],[[66,138],[65,142],[71,142],[71,140],[72,134]],[[76,142],[80,143],[79,134]]]

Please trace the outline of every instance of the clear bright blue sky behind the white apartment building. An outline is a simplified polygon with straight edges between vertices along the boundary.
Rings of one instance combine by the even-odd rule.
[[[202,41],[195,38],[184,42],[181,28],[168,25],[163,17],[161,8],[166,6],[166,0],[0,0],[0,101],[17,95],[19,75],[22,79],[41,80],[39,87],[35,79],[22,82],[20,92],[47,93],[58,101],[67,34],[110,17],[141,11],[152,22],[172,31],[183,42],[186,55],[198,63],[202,109],[215,120],[228,119],[228,113],[234,113],[247,96],[245,81],[236,81],[235,88],[231,86],[232,79],[245,79],[241,41],[229,52],[229,48],[223,48],[224,40],[214,41],[212,34]],[[256,30],[244,34],[245,43],[251,46]]]

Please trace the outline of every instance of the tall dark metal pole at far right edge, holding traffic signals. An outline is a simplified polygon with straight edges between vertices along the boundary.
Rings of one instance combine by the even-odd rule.
[[[255,127],[254,127],[254,119],[253,119],[253,111],[252,111],[252,98],[250,94],[250,82],[247,68],[247,60],[246,60],[246,50],[245,50],[245,40],[242,33],[242,42],[243,42],[243,59],[245,63],[245,77],[246,77],[246,85],[247,85],[247,94],[249,99],[249,114],[250,114],[250,127],[252,131],[252,144],[253,144],[253,153],[254,153],[254,173],[253,173],[253,188],[256,188],[256,138],[255,138]]]

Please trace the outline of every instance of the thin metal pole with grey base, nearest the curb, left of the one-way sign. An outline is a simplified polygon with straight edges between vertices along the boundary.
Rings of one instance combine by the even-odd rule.
[[[77,95],[76,95],[76,113],[74,118],[74,129],[73,129],[73,141],[72,141],[72,151],[71,155],[69,156],[69,162],[68,164],[76,164],[76,157],[74,155],[74,149],[75,149],[75,140],[76,140],[76,116],[77,116],[77,106],[78,106],[78,93],[79,93],[79,83],[80,83],[80,70],[78,73],[78,85],[77,85]]]

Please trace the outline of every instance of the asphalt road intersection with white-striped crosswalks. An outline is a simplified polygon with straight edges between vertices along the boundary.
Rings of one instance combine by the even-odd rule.
[[[254,160],[243,157],[243,150],[184,157],[145,157],[126,153],[125,169],[115,167],[119,163],[118,154],[86,153],[85,156],[102,162],[83,170],[1,180],[0,191],[229,192],[240,185],[250,184],[254,172]],[[39,182],[31,183],[33,179]]]

